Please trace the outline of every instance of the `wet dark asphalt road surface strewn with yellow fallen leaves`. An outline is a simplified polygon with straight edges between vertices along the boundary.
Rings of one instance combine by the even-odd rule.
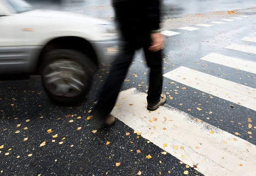
[[[255,15],[226,25],[216,24],[209,28],[197,26],[200,28],[197,31],[173,29],[172,31],[182,34],[166,37],[163,57],[164,73],[179,66],[186,66],[255,88],[255,74],[200,60],[208,53],[215,52],[255,61],[255,54],[225,48],[231,43],[244,44],[241,38],[253,36],[253,32],[256,32],[254,19]],[[252,42],[249,42],[249,45],[256,46]],[[184,175],[185,170],[191,176],[202,175],[191,167],[186,168],[185,164],[180,164],[180,160],[172,155],[168,153],[163,155],[162,149],[134,134],[134,129],[119,120],[107,129],[103,128],[95,118],[86,119],[90,115],[94,102],[97,101],[98,92],[108,71],[109,66],[102,66],[97,71],[91,92],[82,103],[73,107],[51,103],[38,76],[31,76],[28,80],[13,80],[13,78],[3,80],[2,78],[0,81],[0,146],[4,145],[4,148],[0,149],[0,175],[125,176],[136,175],[141,171],[142,175],[147,176],[160,174],[179,176]],[[129,81],[124,82],[122,90],[136,87],[146,92],[147,73],[144,57],[141,51],[138,51],[127,74],[126,79]],[[218,97],[210,98],[210,94],[178,82],[170,84],[171,81],[164,78],[163,92],[170,92],[173,97],[172,100],[167,100],[168,105],[231,134],[239,132],[241,139],[256,144],[255,128],[248,129],[248,118],[252,119],[253,127],[256,126],[255,111],[241,105],[231,108],[233,105],[231,102]],[[183,90],[180,87],[187,87],[187,89]],[[176,89],[178,94],[174,94]],[[201,104],[202,112],[196,110],[198,104]],[[213,113],[211,115],[205,113],[209,111]],[[70,122],[71,119],[73,122]],[[81,130],[78,131],[78,127],[81,127]],[[47,132],[48,129],[52,131],[50,134]],[[92,133],[93,130],[97,132]],[[20,132],[15,133],[16,131]],[[249,135],[248,131],[252,134]],[[126,132],[130,132],[130,135],[126,136]],[[53,138],[55,134],[58,134],[58,137]],[[28,139],[24,140],[26,137]],[[46,145],[40,147],[44,141]],[[107,141],[110,142],[109,145],[106,145]],[[140,153],[136,152],[138,149]],[[9,154],[6,155],[6,153]],[[151,155],[152,158],[146,159],[146,155]],[[121,162],[121,166],[115,166],[117,162]]]

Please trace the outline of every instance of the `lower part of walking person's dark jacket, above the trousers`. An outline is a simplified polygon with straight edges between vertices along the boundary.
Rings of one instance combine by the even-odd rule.
[[[150,31],[159,29],[160,0],[112,0],[122,37],[135,48],[142,47]]]

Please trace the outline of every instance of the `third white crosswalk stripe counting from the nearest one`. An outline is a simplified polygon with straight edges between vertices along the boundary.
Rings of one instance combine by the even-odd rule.
[[[256,74],[256,63],[251,61],[246,61],[234,57],[228,57],[216,53],[210,53],[201,60],[209,61],[212,63],[228,66],[231,68],[248,71],[250,73]]]

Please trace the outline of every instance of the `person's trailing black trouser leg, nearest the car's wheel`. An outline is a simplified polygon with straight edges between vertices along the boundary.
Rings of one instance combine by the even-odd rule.
[[[115,106],[119,90],[122,82],[126,77],[127,70],[132,61],[135,50],[129,46],[125,46],[123,52],[117,56],[112,63],[112,68],[107,77],[106,83],[102,88],[99,101],[94,107],[92,115],[101,119],[106,119]]]

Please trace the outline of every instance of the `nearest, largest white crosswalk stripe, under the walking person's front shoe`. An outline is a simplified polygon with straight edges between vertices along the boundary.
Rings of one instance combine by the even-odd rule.
[[[168,105],[147,111],[146,96],[136,89],[121,92],[111,114],[184,163],[190,166],[198,163],[195,170],[205,176],[249,176],[256,173],[255,145],[204,121],[196,122],[192,116]],[[153,158],[162,155],[148,154]]]

